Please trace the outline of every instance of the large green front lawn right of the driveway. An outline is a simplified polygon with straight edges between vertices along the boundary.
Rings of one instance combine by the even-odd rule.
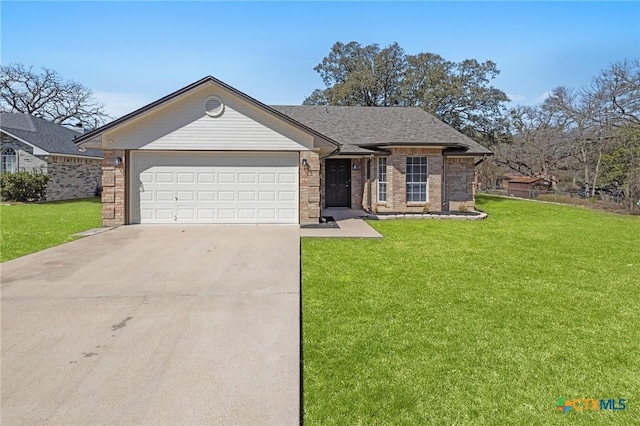
[[[640,218],[478,208],[303,240],[306,424],[640,423]],[[560,396],[627,409],[563,415]]]

